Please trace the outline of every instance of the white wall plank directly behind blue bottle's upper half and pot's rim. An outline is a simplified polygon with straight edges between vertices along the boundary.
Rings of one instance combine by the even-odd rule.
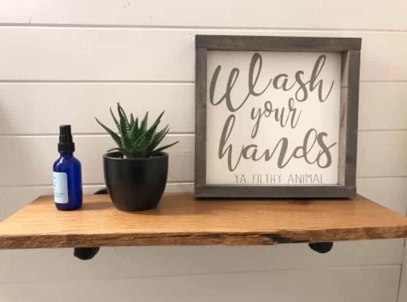
[[[83,183],[104,182],[102,154],[112,147],[107,135],[76,136],[76,156],[82,163]],[[179,140],[168,149],[169,182],[194,180],[194,135],[168,135],[164,143]],[[52,164],[57,158],[57,136],[0,137],[3,163],[2,186],[47,185],[51,183]],[[358,176],[405,176],[407,161],[404,148],[407,131],[359,132]]]

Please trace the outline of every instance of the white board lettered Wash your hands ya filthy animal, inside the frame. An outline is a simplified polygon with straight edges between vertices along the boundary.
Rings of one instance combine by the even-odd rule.
[[[338,183],[341,54],[207,51],[206,183]]]

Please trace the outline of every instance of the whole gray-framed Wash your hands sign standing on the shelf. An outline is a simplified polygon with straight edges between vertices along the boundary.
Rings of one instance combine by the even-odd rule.
[[[353,197],[359,38],[196,36],[196,197]]]

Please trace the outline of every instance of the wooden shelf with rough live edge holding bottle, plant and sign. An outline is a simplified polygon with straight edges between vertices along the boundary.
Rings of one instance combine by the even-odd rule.
[[[43,196],[0,222],[0,249],[149,245],[272,245],[407,236],[407,218],[362,196],[319,200],[195,200],[166,194],[124,213],[108,195],[58,211]]]

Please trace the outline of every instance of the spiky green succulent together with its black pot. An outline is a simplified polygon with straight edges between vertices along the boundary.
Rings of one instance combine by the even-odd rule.
[[[154,208],[160,202],[167,183],[168,154],[164,149],[178,141],[159,147],[169,131],[168,125],[156,131],[162,112],[151,127],[147,127],[148,112],[139,125],[138,118],[130,118],[117,103],[118,119],[110,108],[117,126],[115,133],[96,117],[96,121],[109,133],[117,147],[103,155],[106,186],[114,205],[126,212]]]

